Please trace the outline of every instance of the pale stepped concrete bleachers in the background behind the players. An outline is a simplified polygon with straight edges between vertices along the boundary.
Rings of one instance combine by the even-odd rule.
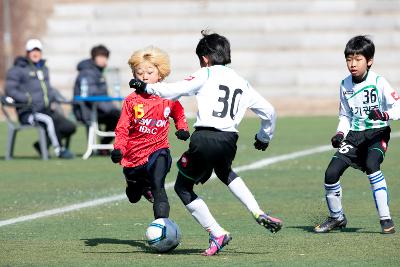
[[[400,1],[395,0],[53,0],[44,56],[53,84],[72,95],[76,64],[93,45],[111,50],[130,92],[131,53],[156,45],[170,54],[168,81],[199,65],[194,49],[205,28],[231,41],[232,67],[269,99],[280,114],[334,114],[337,90],[348,74],[343,49],[358,34],[372,36],[373,69],[400,86]],[[32,1],[36,2],[36,1]],[[184,101],[194,110],[193,102]]]

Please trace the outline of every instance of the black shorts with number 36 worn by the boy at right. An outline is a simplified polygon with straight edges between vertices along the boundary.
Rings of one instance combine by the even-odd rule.
[[[390,140],[390,127],[365,131],[350,131],[334,157],[339,158],[353,168],[365,171],[368,151],[378,150],[385,157]]]

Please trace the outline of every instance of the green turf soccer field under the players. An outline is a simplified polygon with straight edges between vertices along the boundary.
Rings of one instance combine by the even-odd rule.
[[[275,139],[265,152],[253,148],[259,122],[241,125],[235,167],[265,158],[329,144],[337,118],[279,118]],[[393,132],[399,132],[393,123]],[[6,127],[0,123],[0,152]],[[89,160],[41,161],[32,148],[35,132],[18,136],[16,159],[0,159],[0,221],[122,194],[121,168],[108,157]],[[171,136],[176,158],[187,143]],[[392,138],[382,170],[391,193],[391,213],[400,231],[400,138]],[[84,131],[72,140],[72,150],[85,150]],[[260,205],[284,220],[271,234],[257,225],[247,210],[217,180],[197,186],[233,240],[215,257],[203,257],[207,233],[168,189],[171,218],[182,230],[180,246],[169,254],[151,252],[144,241],[152,221],[145,200],[127,200],[80,209],[0,227],[0,266],[400,266],[400,233],[381,235],[363,173],[349,169],[342,179],[348,227],[343,232],[314,234],[314,224],[327,216],[323,176],[333,150],[240,172]],[[173,182],[173,166],[168,183]]]

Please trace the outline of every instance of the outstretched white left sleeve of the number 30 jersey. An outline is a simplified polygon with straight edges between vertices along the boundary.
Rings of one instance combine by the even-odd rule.
[[[195,95],[208,79],[208,68],[201,68],[183,81],[175,83],[147,84],[146,92],[167,99]]]

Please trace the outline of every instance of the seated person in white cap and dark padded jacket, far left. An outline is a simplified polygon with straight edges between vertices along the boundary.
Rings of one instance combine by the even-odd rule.
[[[17,108],[21,124],[43,125],[56,156],[73,158],[68,146],[76,127],[52,107],[52,103],[58,102],[61,95],[50,85],[49,70],[46,61],[42,59],[42,43],[37,39],[30,39],[25,48],[26,56],[17,57],[14,66],[7,73],[6,95],[18,104],[25,104]],[[40,152],[38,142],[34,143],[34,147]]]

